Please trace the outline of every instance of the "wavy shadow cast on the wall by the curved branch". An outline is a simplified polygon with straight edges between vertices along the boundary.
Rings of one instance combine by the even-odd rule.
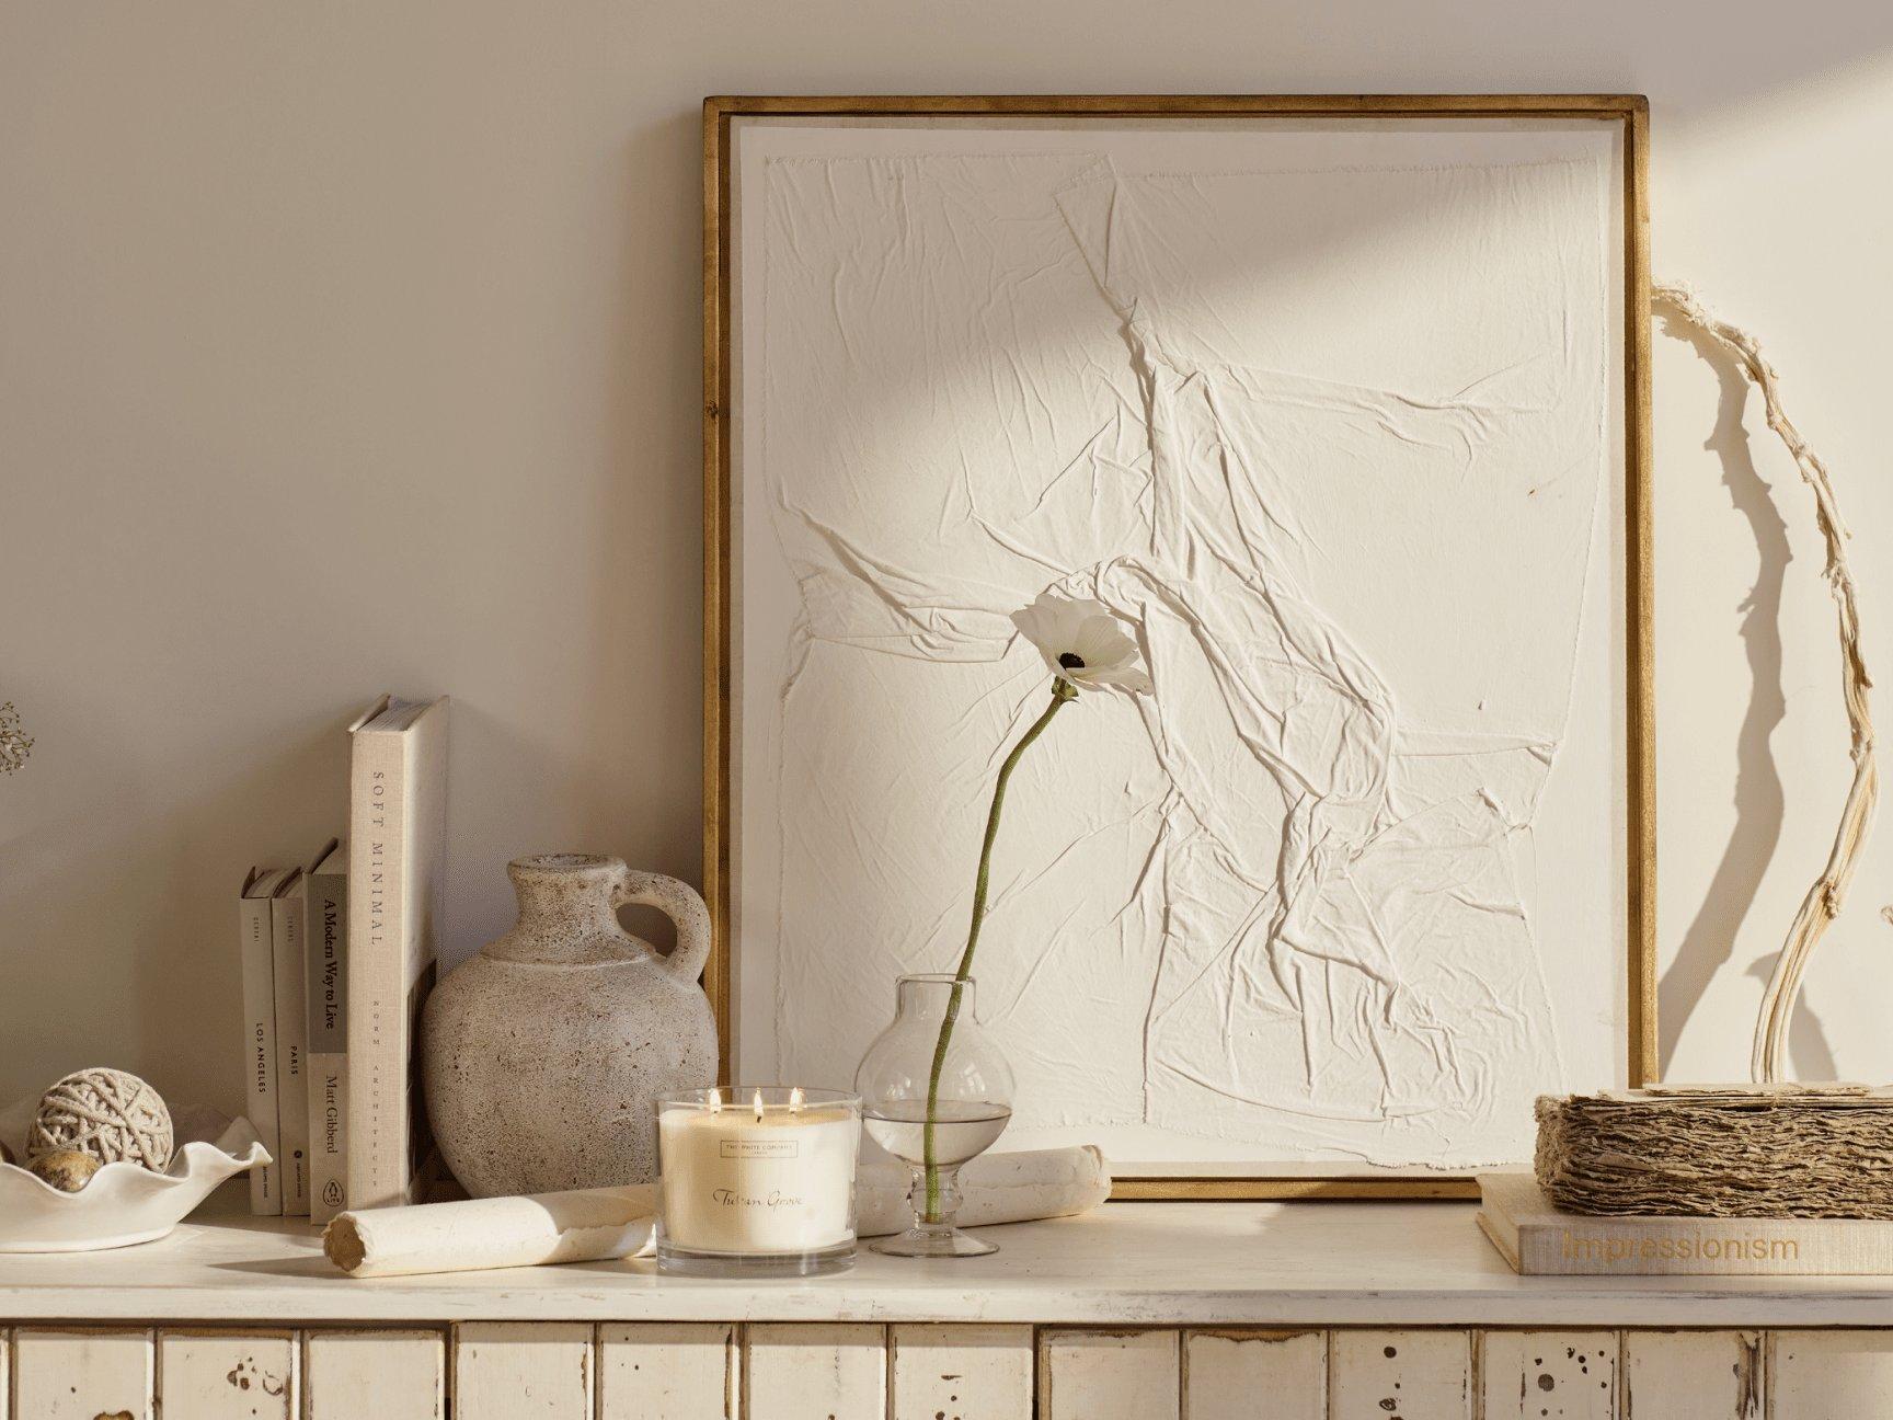
[[[1776,507],[1772,488],[1755,468],[1749,434],[1742,424],[1749,396],[1747,379],[1726,352],[1692,326],[1664,314],[1664,331],[1689,341],[1715,371],[1719,386],[1715,428],[1702,447],[1721,460],[1728,500],[1747,519],[1759,555],[1755,585],[1742,602],[1742,644],[1753,693],[1736,738],[1736,825],[1704,892],[1702,907],[1683,933],[1683,945],[1662,973],[1656,992],[1660,1068],[1668,1072],[1683,1026],[1702,1003],[1709,981],[1734,956],[1736,939],[1755,905],[1762,873],[1781,841],[1785,795],[1770,737],[1787,714],[1787,697],[1781,689],[1781,585],[1793,553],[1787,523]],[[1785,926],[1783,922],[1783,930]],[[1766,983],[1778,954],[1757,960],[1745,975]],[[1789,1058],[1800,1079],[1834,1077],[1834,1053],[1806,998],[1795,1003]]]

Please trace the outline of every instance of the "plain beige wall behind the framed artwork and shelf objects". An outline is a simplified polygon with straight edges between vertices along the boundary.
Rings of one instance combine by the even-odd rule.
[[[519,852],[695,879],[704,93],[1272,89],[1649,93],[1658,273],[1764,335],[1893,676],[1885,8],[0,0],[0,701],[38,737],[0,1100],[112,1062],[239,1104],[231,894],[335,827],[382,687],[458,701],[456,956]],[[1844,788],[1836,655],[1793,468],[1687,343],[1656,388],[1666,1038],[1736,1077]],[[1893,825],[1808,1074],[1893,1074],[1889,865]]]

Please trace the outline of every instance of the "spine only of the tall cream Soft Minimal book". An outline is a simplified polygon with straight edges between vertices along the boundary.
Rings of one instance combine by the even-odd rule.
[[[348,786],[348,1206],[407,1202],[407,744],[358,731]]]

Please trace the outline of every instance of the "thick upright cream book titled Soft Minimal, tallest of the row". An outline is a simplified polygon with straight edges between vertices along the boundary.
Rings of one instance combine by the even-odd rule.
[[[413,1202],[426,1147],[415,1034],[433,977],[447,844],[447,697],[382,697],[350,725],[350,1208]]]

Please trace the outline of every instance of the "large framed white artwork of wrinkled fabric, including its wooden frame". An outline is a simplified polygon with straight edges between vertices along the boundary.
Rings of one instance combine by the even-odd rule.
[[[846,1085],[1011,780],[998,1149],[1467,1193],[1654,1064],[1647,110],[712,98],[704,814],[727,1077]]]

